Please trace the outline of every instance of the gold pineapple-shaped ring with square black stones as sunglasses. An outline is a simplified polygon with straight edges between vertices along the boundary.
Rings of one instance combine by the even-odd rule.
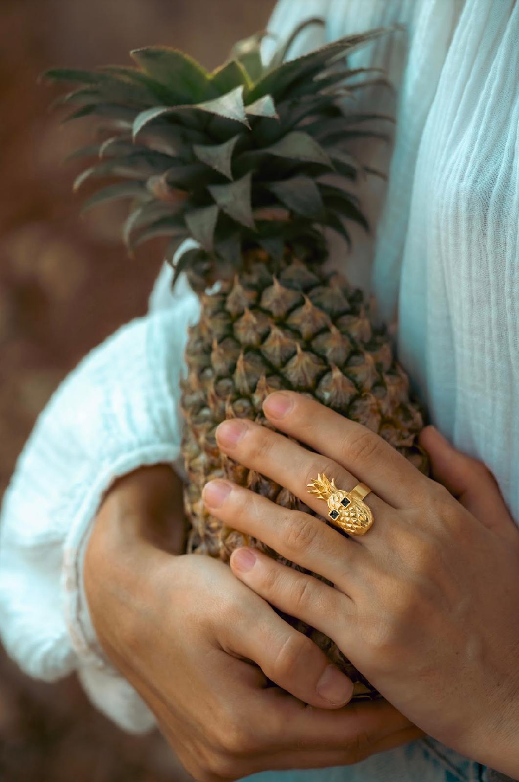
[[[337,489],[333,478],[329,481],[323,472],[312,480],[308,494],[315,494],[328,504],[328,515],[333,524],[348,535],[364,535],[373,524],[373,513],[364,500],[371,491],[366,483],[358,483],[351,491]]]

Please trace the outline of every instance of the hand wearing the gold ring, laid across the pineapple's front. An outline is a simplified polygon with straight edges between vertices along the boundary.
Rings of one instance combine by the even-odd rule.
[[[437,451],[438,473],[464,508],[379,436],[306,396],[274,393],[264,410],[278,429],[319,453],[240,420],[218,427],[219,447],[323,515],[326,504],[307,489],[318,473],[345,490],[365,482],[375,522],[365,536],[346,538],[315,516],[210,482],[204,500],[211,514],[335,589],[250,549],[232,554],[236,576],[333,638],[428,734],[515,776],[519,533],[492,476],[467,457],[456,459],[431,429],[424,433],[423,444]]]

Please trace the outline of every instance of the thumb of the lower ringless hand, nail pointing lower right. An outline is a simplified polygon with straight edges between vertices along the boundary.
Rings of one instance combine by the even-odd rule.
[[[312,640],[295,630],[265,603],[218,632],[224,651],[260,666],[265,676],[299,700],[319,708],[339,708],[351,699],[353,683]]]

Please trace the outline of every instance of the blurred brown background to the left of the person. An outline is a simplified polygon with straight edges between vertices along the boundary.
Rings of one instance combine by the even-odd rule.
[[[143,45],[177,46],[216,66],[261,29],[273,0],[0,0],[0,493],[36,416],[77,361],[146,311],[161,264],[129,262],[118,207],[78,217],[77,165],[63,156],[87,129],[58,127],[38,86],[52,65],[128,63]],[[158,735],[129,737],[74,679],[27,679],[0,650],[2,782],[185,780]]]

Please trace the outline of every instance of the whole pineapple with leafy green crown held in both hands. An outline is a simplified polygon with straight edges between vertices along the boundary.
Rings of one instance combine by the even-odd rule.
[[[384,80],[374,69],[348,70],[346,59],[387,31],[341,38],[287,62],[294,37],[318,23],[301,25],[266,64],[257,34],[212,73],[175,49],[151,47],[132,52],[136,66],[45,74],[76,85],[58,99],[74,107],[67,120],[99,120],[97,142],[75,154],[98,160],[74,188],[114,181],[85,209],[130,199],[123,235],[131,253],[166,236],[172,263],[182,239],[196,239],[174,264],[174,282],[186,272],[201,304],[182,380],[189,551],[224,561],[243,543],[279,555],[207,514],[207,480],[225,476],[308,511],[283,486],[220,454],[214,439],[225,418],[265,424],[261,404],[275,389],[307,393],[360,421],[427,472],[416,443],[420,409],[387,332],[372,325],[362,292],[323,266],[325,229],[348,243],[348,221],[368,229],[355,188],[370,169],[348,145],[380,135],[369,122],[387,117],[355,112],[351,99]],[[356,697],[376,694],[330,639],[287,620],[351,676]]]

